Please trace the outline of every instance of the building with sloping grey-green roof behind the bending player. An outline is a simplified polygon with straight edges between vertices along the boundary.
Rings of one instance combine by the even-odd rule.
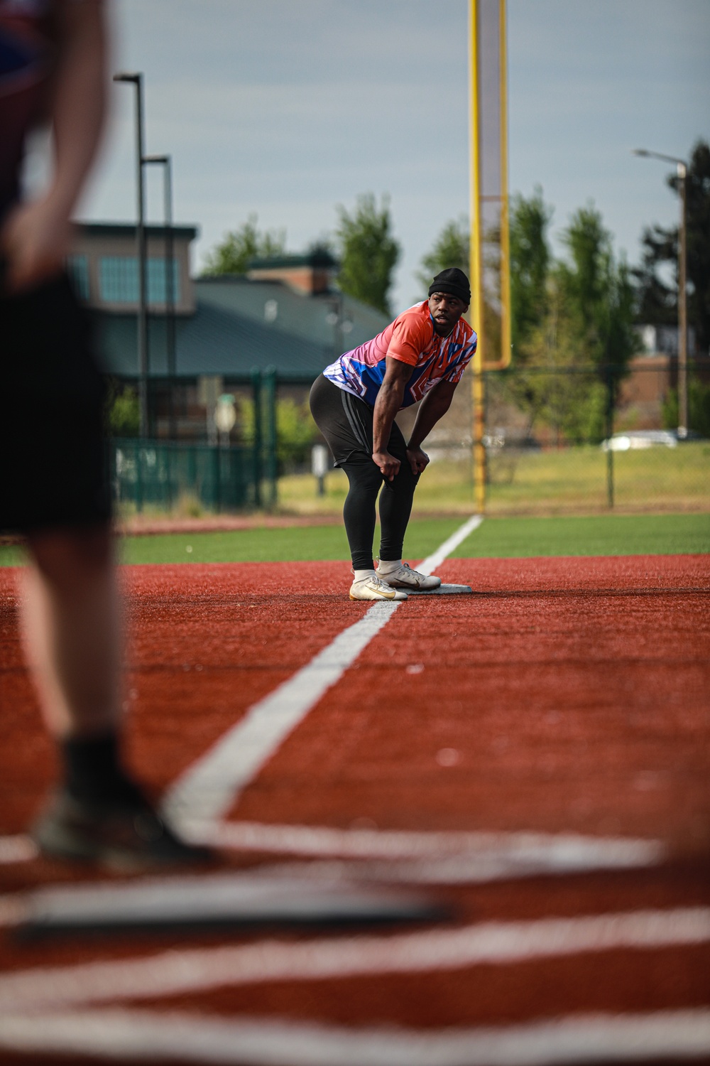
[[[327,252],[257,260],[246,276],[193,278],[189,246],[197,227],[172,228],[171,271],[166,263],[164,227],[146,229],[153,435],[168,433],[170,405],[178,411],[181,437],[204,434],[201,378],[219,378],[219,390],[238,392],[250,387],[254,369],[276,368],[282,388],[303,394],[328,362],[387,324],[381,312],[334,287],[337,264]],[[106,374],[134,384],[138,377],[136,227],[80,224],[69,268],[79,294],[94,312]],[[170,275],[172,375],[166,300]]]

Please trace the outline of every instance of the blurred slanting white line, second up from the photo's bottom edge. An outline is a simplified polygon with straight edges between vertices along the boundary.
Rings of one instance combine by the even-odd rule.
[[[482,922],[394,936],[261,940],[0,976],[0,1014],[138,1000],[271,981],[337,980],[511,966],[589,952],[710,941],[710,908]]]

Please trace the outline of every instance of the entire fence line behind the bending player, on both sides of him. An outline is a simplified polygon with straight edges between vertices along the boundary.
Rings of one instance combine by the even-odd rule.
[[[673,359],[638,358],[623,375],[613,368],[513,367],[483,376],[489,514],[710,512],[710,360],[690,368],[684,439],[673,429],[678,424]],[[466,371],[451,410],[426,441],[432,465],[417,490],[419,510],[474,505],[472,378]],[[294,424],[306,418],[306,393],[290,398]],[[309,427],[299,422],[297,433],[287,420],[277,426],[276,397],[275,387],[254,384],[247,404],[253,424],[242,445],[114,440],[116,502],[137,511],[172,511],[191,499],[211,512],[277,505],[299,511],[312,491],[301,454]],[[415,416],[408,408],[398,417],[406,435]],[[284,478],[288,472],[291,479]],[[332,475],[329,483],[336,480]],[[342,504],[340,498],[335,502]]]

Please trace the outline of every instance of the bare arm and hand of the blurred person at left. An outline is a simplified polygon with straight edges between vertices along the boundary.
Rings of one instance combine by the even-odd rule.
[[[45,195],[12,211],[0,232],[10,291],[28,288],[61,270],[69,247],[71,212],[103,128],[106,33],[102,0],[65,0],[59,16],[59,59],[49,114],[54,172]]]

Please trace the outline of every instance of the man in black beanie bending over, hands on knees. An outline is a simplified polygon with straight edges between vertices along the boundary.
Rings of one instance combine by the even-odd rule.
[[[463,271],[442,271],[429,286],[428,300],[346,352],[313,384],[313,418],[350,485],[343,508],[352,556],[350,599],[402,600],[408,589],[426,592],[442,583],[413,570],[401,556],[414,489],[429,463],[422,442],[448,410],[476,351],[476,334],[461,318],[469,302]],[[406,442],[395,416],[418,401]],[[381,537],[375,569],[378,492]]]

